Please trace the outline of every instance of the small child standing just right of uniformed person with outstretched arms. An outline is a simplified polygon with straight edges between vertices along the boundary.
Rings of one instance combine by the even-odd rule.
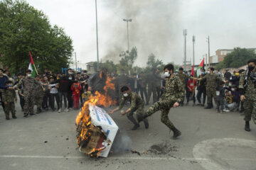
[[[216,112],[217,113],[223,113],[224,109],[224,99],[225,99],[225,89],[224,89],[224,81],[220,81],[220,85],[218,86],[216,90],[216,98],[217,98],[217,106],[216,106]]]

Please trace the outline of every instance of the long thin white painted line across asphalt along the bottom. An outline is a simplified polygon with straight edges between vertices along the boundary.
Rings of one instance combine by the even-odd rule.
[[[65,157],[65,156],[43,156],[43,155],[0,155],[0,158],[39,158],[39,159],[86,159],[85,157]],[[181,160],[181,161],[194,161],[194,162],[211,162],[210,159],[206,158],[179,158],[179,157],[108,157],[101,159],[124,159],[124,160]],[[224,159],[225,161],[235,161],[235,162],[244,162],[244,161],[253,161],[256,159]]]

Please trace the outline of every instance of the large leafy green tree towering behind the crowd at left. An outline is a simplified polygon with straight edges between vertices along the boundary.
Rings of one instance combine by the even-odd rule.
[[[72,40],[63,28],[50,26],[42,11],[26,1],[0,2],[0,61],[11,72],[28,68],[29,51],[39,71],[68,67]]]

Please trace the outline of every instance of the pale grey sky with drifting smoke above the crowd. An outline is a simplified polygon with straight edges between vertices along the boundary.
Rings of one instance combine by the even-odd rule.
[[[27,0],[28,4],[48,16],[52,25],[64,28],[73,40],[80,63],[97,61],[94,0]],[[135,65],[144,67],[153,53],[163,62],[182,64],[183,29],[187,29],[187,59],[195,64],[208,53],[206,37],[210,36],[210,55],[218,49],[255,47],[255,0],[97,0],[99,57],[102,62],[119,62],[119,54],[137,47]],[[75,57],[73,56],[75,60]]]

